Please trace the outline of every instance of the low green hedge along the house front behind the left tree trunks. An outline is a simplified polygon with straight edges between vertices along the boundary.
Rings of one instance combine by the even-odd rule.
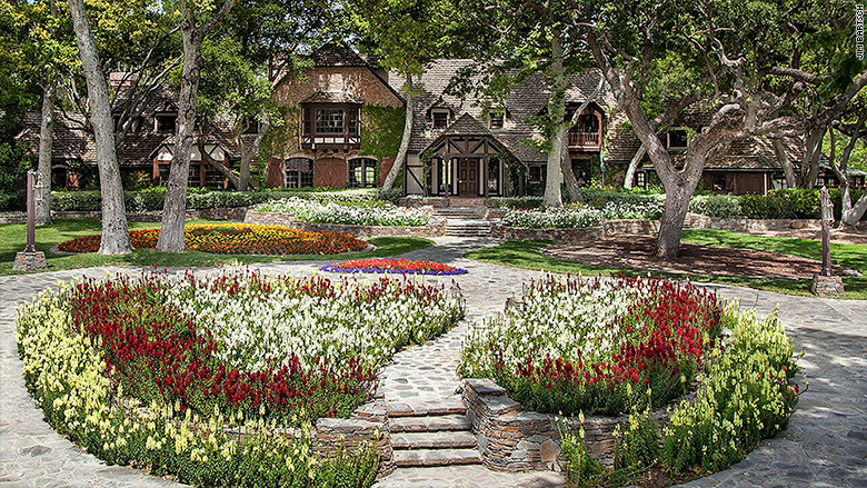
[[[207,191],[188,189],[187,208],[193,210],[210,208],[250,207],[270,200],[298,197],[317,201],[362,202],[373,201],[378,197],[376,189],[362,190],[266,190],[266,191]],[[141,191],[124,191],[128,212],[162,210],[166,189],[150,188]],[[56,211],[98,211],[100,195],[97,190],[52,191],[51,209]]]

